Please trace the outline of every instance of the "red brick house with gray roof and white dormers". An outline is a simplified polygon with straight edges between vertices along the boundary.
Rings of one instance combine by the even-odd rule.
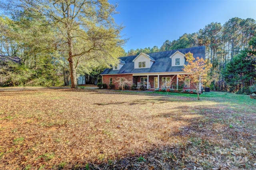
[[[205,46],[120,57],[119,64],[101,73],[102,82],[114,84],[115,89],[118,89],[115,80],[120,78],[130,80],[137,87],[145,85],[148,89],[178,88],[180,84],[183,89],[192,89],[190,79],[178,78],[178,75],[187,74],[182,68],[188,63],[185,58],[188,52],[193,53],[194,58],[205,59]]]

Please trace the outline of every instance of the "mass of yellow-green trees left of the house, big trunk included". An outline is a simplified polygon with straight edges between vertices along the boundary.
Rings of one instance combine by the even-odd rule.
[[[21,59],[18,65],[0,61],[9,85],[66,86],[71,80],[77,88],[79,74],[110,67],[124,53],[123,26],[107,0],[0,2],[6,12],[0,16],[0,55]]]

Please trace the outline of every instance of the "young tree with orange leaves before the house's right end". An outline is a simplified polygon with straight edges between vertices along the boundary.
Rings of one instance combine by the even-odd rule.
[[[194,84],[194,88],[197,91],[197,100],[199,99],[199,93],[201,91],[202,83],[207,81],[207,73],[212,67],[212,64],[207,64],[207,60],[203,58],[193,57],[192,53],[187,53],[185,55],[186,60],[188,61],[187,65],[184,65],[183,70],[188,73],[188,78],[190,82]]]

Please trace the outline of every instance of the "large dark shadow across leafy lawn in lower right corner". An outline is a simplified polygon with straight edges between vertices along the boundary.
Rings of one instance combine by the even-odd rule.
[[[198,108],[200,108],[199,106]],[[178,107],[176,107],[178,108]],[[255,136],[246,127],[237,125],[228,127],[230,115],[222,109],[210,109],[197,113],[202,117],[186,119],[182,116],[191,113],[162,113],[157,117],[173,117],[174,121],[187,121],[188,125],[177,128],[178,131],[164,135],[164,138],[179,139],[178,143],[166,145],[148,144],[145,153],[126,154],[115,160],[101,162],[80,162],[69,167],[73,170],[171,170],[171,169],[254,169],[256,168]],[[175,117],[176,116],[176,117]],[[226,120],[218,122],[222,118]],[[229,117],[229,118],[228,118]],[[238,120],[243,117],[234,117]],[[229,120],[228,120],[229,119]],[[246,120],[244,120],[246,121]],[[245,141],[244,141],[245,140]],[[246,142],[247,141],[247,142]],[[118,156],[117,156],[118,157]]]

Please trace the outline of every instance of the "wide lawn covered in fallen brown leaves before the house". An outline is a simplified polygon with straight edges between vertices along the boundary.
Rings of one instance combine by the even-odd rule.
[[[0,169],[254,169],[256,100],[114,90],[0,92]]]

